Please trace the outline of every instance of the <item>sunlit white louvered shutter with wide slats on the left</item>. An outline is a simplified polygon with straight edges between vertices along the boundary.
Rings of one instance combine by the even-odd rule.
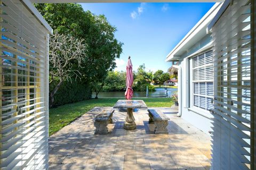
[[[47,32],[21,1],[0,2],[0,169],[46,169]]]

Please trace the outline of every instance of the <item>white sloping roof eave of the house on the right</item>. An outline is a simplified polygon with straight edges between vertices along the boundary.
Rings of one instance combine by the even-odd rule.
[[[206,28],[219,11],[223,3],[215,3],[213,7],[197,22],[197,24],[187,33],[180,43],[167,55],[166,62],[179,60],[180,56],[199,40],[206,36]]]

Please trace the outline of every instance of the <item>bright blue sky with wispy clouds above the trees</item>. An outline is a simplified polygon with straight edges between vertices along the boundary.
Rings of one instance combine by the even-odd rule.
[[[130,55],[134,70],[145,63],[146,71],[163,70],[167,54],[214,3],[84,3],[85,11],[104,14],[117,28],[115,37],[124,43],[116,60],[118,71],[125,71]]]

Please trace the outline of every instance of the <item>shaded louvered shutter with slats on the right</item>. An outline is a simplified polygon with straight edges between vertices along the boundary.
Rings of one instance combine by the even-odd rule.
[[[212,167],[252,169],[251,2],[234,0],[213,26]]]

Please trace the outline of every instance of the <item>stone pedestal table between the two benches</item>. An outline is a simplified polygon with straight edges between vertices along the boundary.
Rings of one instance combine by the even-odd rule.
[[[135,118],[133,117],[133,109],[143,108],[147,109],[147,105],[143,100],[118,100],[113,108],[127,109],[127,114],[124,123],[124,129],[134,130],[136,129]]]

